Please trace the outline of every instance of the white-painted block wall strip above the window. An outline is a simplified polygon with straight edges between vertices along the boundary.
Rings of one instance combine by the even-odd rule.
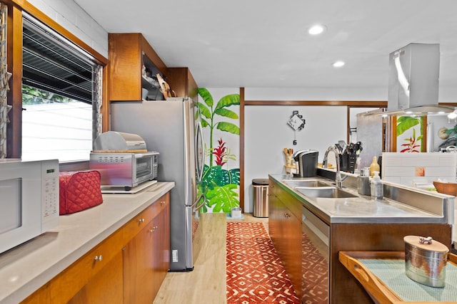
[[[74,1],[28,0],[84,43],[108,58],[108,32]]]

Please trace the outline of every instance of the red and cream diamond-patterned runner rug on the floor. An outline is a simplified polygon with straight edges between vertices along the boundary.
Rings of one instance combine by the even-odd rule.
[[[227,303],[300,303],[263,223],[227,222]]]

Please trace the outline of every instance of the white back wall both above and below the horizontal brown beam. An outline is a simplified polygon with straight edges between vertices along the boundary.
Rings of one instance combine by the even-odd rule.
[[[387,88],[245,88],[245,100],[387,100]],[[294,133],[286,122],[298,110],[306,120]],[[250,105],[245,108],[244,206],[252,211],[252,179],[283,173],[283,148],[313,149],[319,162],[327,147],[346,141],[346,106]],[[331,159],[331,157],[329,157]],[[334,159],[334,158],[333,158]],[[334,160],[333,160],[334,161]]]

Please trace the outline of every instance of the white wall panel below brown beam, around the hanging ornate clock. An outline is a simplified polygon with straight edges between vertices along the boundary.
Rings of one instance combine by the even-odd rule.
[[[322,162],[328,146],[346,141],[346,106],[248,105],[244,110],[245,212],[252,212],[252,179],[284,172],[283,148],[318,150]],[[301,131],[287,125],[294,110],[306,120]]]

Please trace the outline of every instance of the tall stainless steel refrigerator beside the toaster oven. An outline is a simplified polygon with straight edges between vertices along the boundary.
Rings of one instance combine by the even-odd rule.
[[[111,130],[143,137],[148,150],[159,152],[157,180],[175,182],[170,193],[170,271],[191,271],[199,226],[197,183],[204,166],[204,144],[194,102],[148,100],[111,102]]]

